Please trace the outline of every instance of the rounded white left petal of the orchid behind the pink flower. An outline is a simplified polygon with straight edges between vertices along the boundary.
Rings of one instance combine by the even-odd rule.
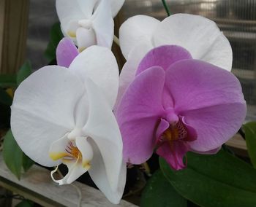
[[[152,35],[159,20],[144,15],[137,15],[126,20],[119,29],[121,52],[128,59],[129,52],[141,42],[152,44]]]

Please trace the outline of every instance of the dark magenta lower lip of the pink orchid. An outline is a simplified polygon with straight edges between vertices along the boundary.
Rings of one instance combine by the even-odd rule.
[[[157,149],[157,155],[164,157],[167,163],[176,171],[186,168],[183,157],[189,151],[189,147],[183,141],[173,141],[172,144],[162,144]]]

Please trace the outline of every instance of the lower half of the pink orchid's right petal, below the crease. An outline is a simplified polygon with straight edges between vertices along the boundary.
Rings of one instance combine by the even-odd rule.
[[[246,116],[246,104],[219,104],[182,115],[197,131],[197,140],[190,142],[189,147],[192,151],[206,152],[220,147],[237,133]]]

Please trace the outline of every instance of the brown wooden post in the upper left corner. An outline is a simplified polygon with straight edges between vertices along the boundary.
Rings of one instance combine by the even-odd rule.
[[[0,0],[0,74],[15,74],[24,62],[29,0]]]

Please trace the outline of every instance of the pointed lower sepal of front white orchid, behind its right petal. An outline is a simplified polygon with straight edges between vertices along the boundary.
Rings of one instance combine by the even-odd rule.
[[[91,146],[94,148],[94,158],[91,160],[91,168],[89,169],[89,174],[91,179],[97,185],[99,190],[101,190],[104,195],[114,204],[118,204],[124,193],[124,186],[127,175],[126,163],[121,164],[120,171],[116,174],[117,187],[113,189],[110,180],[108,179],[108,174],[106,172],[106,166],[103,162],[103,157],[97,144],[91,141]],[[111,149],[110,149],[111,150]]]

